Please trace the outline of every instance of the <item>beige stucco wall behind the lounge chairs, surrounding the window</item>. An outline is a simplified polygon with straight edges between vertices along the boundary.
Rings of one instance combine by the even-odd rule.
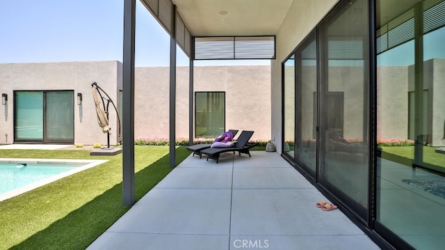
[[[169,68],[135,69],[135,139],[169,137]],[[177,68],[176,137],[188,139],[189,68]],[[195,67],[193,91],[225,91],[226,130],[270,139],[270,67]]]

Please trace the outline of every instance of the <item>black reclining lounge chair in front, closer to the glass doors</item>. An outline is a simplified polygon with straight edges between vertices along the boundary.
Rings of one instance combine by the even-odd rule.
[[[239,155],[241,153],[247,154],[250,157],[250,148],[253,148],[254,146],[257,146],[258,143],[249,143],[250,137],[252,137],[253,131],[243,131],[239,135],[238,139],[236,139],[236,143],[232,148],[207,148],[204,150],[201,150],[200,153],[207,155],[207,160],[210,159],[216,159],[216,163],[218,163],[218,160],[220,159],[220,154],[225,152],[238,152]]]

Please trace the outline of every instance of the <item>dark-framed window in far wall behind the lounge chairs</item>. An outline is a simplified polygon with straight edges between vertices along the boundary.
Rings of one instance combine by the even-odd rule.
[[[225,132],[225,92],[195,92],[195,137]]]

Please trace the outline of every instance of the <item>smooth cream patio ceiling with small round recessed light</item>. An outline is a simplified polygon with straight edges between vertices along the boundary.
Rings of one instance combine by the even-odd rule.
[[[292,1],[172,0],[172,3],[192,36],[273,36]]]

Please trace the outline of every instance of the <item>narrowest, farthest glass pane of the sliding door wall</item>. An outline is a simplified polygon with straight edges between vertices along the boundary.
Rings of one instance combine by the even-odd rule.
[[[283,153],[294,158],[295,144],[295,58],[284,62],[284,141]]]

